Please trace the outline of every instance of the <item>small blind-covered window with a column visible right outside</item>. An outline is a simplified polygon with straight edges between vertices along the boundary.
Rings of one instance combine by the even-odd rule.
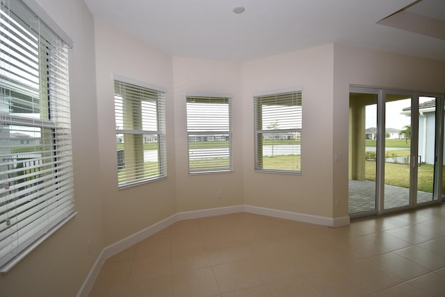
[[[140,85],[114,82],[120,188],[167,176],[165,92]]]

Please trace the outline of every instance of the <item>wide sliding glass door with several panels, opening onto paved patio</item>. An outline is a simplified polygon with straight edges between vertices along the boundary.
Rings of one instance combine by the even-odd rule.
[[[350,216],[442,200],[443,96],[350,89]]]

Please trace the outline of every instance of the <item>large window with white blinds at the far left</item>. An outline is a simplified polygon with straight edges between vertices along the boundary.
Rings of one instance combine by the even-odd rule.
[[[21,1],[1,1],[0,14],[4,273],[75,212],[68,45]]]

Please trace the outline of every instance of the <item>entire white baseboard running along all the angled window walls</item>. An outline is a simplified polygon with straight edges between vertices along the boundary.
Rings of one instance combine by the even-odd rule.
[[[130,235],[129,237],[125,237],[110,246],[106,246],[102,253],[100,253],[97,258],[95,264],[92,266],[90,273],[83,282],[77,297],[86,297],[94,285],[95,279],[99,274],[102,265],[104,264],[106,258],[111,257],[121,251],[124,251],[126,248],[137,244],[139,241],[146,239],[154,235],[154,233],[171,226],[173,223],[177,221],[183,221],[187,219],[199,219],[203,217],[213,217],[219,216],[222,214],[234,214],[237,212],[249,212],[252,214],[262,214],[268,217],[276,217],[280,219],[288,219],[292,221],[300,221],[304,223],[313,223],[321,226],[329,226],[329,227],[339,227],[349,225],[350,219],[349,217],[341,217],[341,218],[327,218],[327,217],[318,217],[310,214],[300,214],[298,212],[286,212],[284,210],[273,210],[271,208],[252,206],[252,205],[235,205],[235,206],[227,206],[227,207],[218,207],[218,208],[209,208],[206,210],[193,210],[191,212],[177,212],[176,214],[172,214],[170,217],[163,219],[157,223],[154,223],[152,226],[149,226],[139,232]]]

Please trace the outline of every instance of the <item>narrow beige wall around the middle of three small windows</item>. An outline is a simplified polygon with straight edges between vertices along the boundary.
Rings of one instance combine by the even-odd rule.
[[[173,58],[177,212],[243,204],[241,147],[241,65],[234,62]],[[186,94],[230,94],[232,98],[232,173],[188,174]],[[218,198],[218,191],[222,195]]]

